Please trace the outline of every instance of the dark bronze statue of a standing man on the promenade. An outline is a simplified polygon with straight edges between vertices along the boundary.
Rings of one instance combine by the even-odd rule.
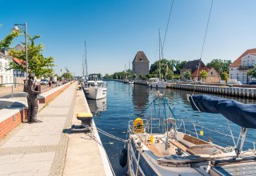
[[[29,74],[28,80],[26,81],[26,92],[27,92],[27,119],[28,122],[41,122],[37,119],[38,114],[38,88],[35,84],[34,74]]]

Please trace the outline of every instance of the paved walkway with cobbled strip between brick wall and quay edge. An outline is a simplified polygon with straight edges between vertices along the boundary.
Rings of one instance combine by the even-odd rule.
[[[0,175],[62,175],[74,110],[75,82],[38,113],[0,140]]]

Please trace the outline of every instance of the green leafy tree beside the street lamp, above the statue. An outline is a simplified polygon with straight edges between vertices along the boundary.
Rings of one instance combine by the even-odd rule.
[[[42,55],[42,44],[35,44],[35,40],[38,38],[40,38],[38,35],[35,35],[34,37],[28,36],[28,70],[30,73],[34,73],[38,78],[41,78],[42,76],[50,77],[54,74],[54,58],[45,58]],[[22,60],[22,64],[18,65],[14,61],[11,61],[9,69],[26,71],[26,51],[10,50],[10,55]]]

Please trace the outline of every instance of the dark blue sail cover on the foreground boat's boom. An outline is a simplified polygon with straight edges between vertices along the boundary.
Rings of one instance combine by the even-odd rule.
[[[256,129],[256,105],[206,94],[191,95],[189,99],[193,110],[222,114],[238,126]]]

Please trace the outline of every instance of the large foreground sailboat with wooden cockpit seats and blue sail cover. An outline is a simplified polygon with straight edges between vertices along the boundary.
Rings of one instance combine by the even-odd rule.
[[[201,127],[199,134],[194,124],[191,127],[194,133],[186,129],[184,119],[178,119],[170,108],[168,100],[163,98],[162,94],[158,94],[150,106],[159,110],[150,110],[148,106],[151,118],[135,118],[129,122],[127,150],[122,150],[121,153],[127,154],[128,174],[131,176],[256,175],[255,146],[252,150],[242,150],[244,142],[249,142],[246,141],[246,129],[256,129],[256,105],[244,105],[208,95],[190,96],[190,102],[194,110],[220,113],[241,126],[242,130],[238,138],[234,138],[230,133],[233,141],[238,139],[238,142],[234,141],[233,147],[225,147],[218,146],[211,140],[198,138],[203,135]],[[159,114],[161,111],[162,113]],[[158,112],[158,115],[154,112]],[[219,131],[216,133],[220,134]],[[121,163],[125,163],[122,158]]]

